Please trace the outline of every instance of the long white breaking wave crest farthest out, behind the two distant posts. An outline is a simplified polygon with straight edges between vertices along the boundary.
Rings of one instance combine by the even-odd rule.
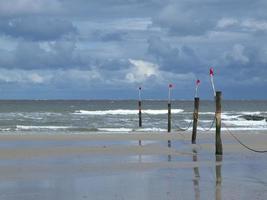
[[[181,113],[183,112],[182,109],[172,109],[173,114]],[[146,113],[149,115],[162,115],[162,114],[167,114],[167,110],[142,110],[142,113]],[[78,110],[75,111],[74,114],[80,114],[80,115],[137,115],[138,110],[123,110],[123,109],[118,109],[118,110],[95,110],[95,111],[90,111],[90,110]]]

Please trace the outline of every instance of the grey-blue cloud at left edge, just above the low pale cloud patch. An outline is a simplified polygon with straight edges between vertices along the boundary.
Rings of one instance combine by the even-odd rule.
[[[81,65],[75,43],[66,41],[49,44],[46,48],[36,42],[21,41],[15,50],[2,50],[1,54],[0,66],[7,69],[64,69]]]

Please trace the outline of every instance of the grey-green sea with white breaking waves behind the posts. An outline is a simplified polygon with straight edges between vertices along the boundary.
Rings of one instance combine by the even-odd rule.
[[[1,100],[0,134],[165,132],[167,104],[165,100],[142,101],[140,128],[136,100]],[[194,102],[173,100],[171,107],[172,131],[190,132]],[[214,130],[214,113],[213,101],[200,102],[200,131]],[[267,101],[222,102],[223,130],[266,131],[266,118]]]

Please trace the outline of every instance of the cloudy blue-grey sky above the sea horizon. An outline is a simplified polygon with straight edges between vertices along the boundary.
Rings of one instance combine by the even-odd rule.
[[[0,99],[267,99],[266,0],[0,0]],[[264,92],[265,91],[265,92]]]

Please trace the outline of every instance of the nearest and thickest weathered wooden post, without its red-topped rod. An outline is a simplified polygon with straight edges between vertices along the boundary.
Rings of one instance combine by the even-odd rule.
[[[215,119],[216,119],[216,136],[215,136],[216,155],[222,155],[223,154],[222,140],[221,140],[221,112],[222,112],[221,97],[222,97],[222,92],[217,91],[216,92],[216,113],[215,113]]]

